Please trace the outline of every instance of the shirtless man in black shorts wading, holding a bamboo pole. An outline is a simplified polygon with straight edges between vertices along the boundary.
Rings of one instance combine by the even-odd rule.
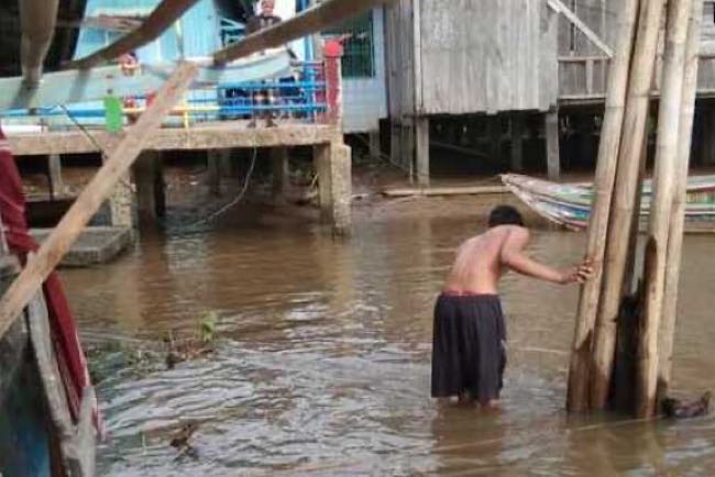
[[[507,270],[560,285],[583,284],[588,260],[559,270],[525,254],[529,231],[519,212],[499,206],[490,229],[464,242],[435,307],[432,397],[497,400],[506,365],[506,330],[497,284]]]

